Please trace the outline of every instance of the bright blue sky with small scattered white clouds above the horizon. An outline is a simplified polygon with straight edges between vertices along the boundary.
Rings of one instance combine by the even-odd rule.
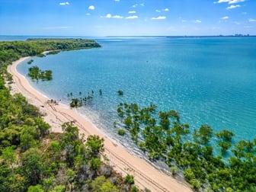
[[[256,34],[256,0],[0,0],[1,35]]]

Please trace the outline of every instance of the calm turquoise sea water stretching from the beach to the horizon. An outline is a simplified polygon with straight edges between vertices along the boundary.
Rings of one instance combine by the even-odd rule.
[[[53,71],[51,82],[31,82],[49,98],[69,104],[67,94],[94,99],[78,111],[127,148],[117,135],[120,102],[178,110],[191,129],[209,124],[229,129],[235,140],[256,136],[256,38],[101,38],[101,48],[34,58]],[[32,65],[32,66],[33,66]],[[31,65],[30,65],[31,66]],[[27,62],[18,71],[27,74]],[[102,96],[98,90],[102,89]],[[123,90],[123,96],[117,94]]]

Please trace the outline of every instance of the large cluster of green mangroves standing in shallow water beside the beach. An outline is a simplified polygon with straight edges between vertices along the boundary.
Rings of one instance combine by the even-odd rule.
[[[117,114],[120,126],[149,159],[166,162],[172,174],[181,170],[195,190],[256,191],[256,138],[233,144],[234,133],[213,133],[210,126],[202,125],[190,140],[189,125],[181,123],[178,112],[157,113],[154,104],[140,108],[137,104],[120,103]],[[119,129],[118,133],[126,132]],[[222,155],[213,155],[214,140]],[[224,158],[228,149],[229,158]]]

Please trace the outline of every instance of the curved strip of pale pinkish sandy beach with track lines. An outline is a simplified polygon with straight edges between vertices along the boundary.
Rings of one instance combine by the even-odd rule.
[[[46,98],[39,91],[31,87],[27,79],[17,72],[16,66],[26,58],[21,58],[8,66],[8,72],[13,75],[14,83],[11,85],[11,93],[21,93],[27,98],[30,104],[38,107],[44,114],[44,120],[50,124],[51,131],[62,132],[61,125],[64,122],[72,121],[78,126],[80,133],[88,135],[98,135],[104,138],[104,147],[110,165],[123,175],[133,174],[135,182],[141,189],[148,188],[151,191],[191,191],[189,187],[176,181],[171,176],[158,171],[149,165],[145,160],[131,155],[126,149],[118,146],[104,136],[91,122],[85,120],[81,115],[62,104],[47,104],[50,98]]]

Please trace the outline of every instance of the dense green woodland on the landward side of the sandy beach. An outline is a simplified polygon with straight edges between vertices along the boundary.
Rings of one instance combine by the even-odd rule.
[[[108,164],[103,139],[79,136],[72,123],[62,125],[63,133],[50,133],[36,107],[10,94],[7,64],[44,48],[0,44],[0,191],[138,191],[133,176],[122,178]]]

